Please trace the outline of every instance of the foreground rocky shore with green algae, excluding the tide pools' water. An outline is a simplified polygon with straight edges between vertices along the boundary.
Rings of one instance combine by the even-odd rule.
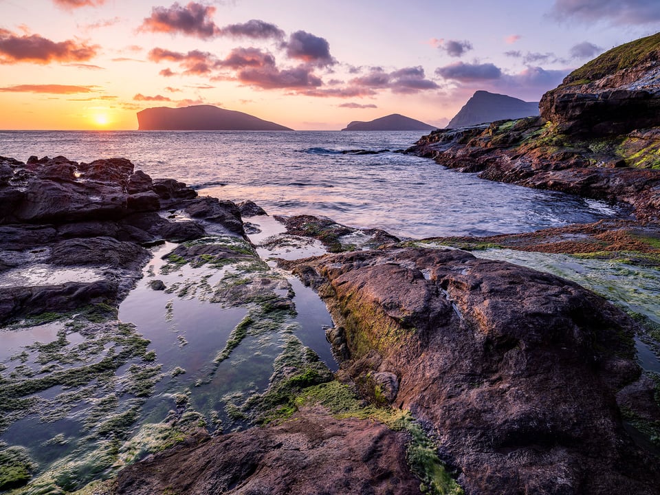
[[[196,387],[221,373],[218,366],[243,339],[264,331],[285,335],[301,309],[245,234],[245,227],[259,230],[263,210],[197,197],[177,181],[135,172],[125,159],[0,162],[0,194],[11,206],[0,225],[0,275],[14,281],[0,287],[5,331],[66,322],[54,342],[34,348],[36,362],[46,366],[21,369],[17,362],[30,362],[29,353],[12,357],[13,368],[0,382],[0,426],[7,431],[43,408],[65,418],[90,394],[98,397],[94,404],[115,404],[108,421],[89,411],[88,438],[97,444],[83,466],[67,461],[32,479],[39,471],[29,451],[0,448],[0,461],[14,473],[3,489],[30,482],[15,493],[87,486],[89,493],[126,494],[513,494],[598,493],[626,485],[630,493],[645,494],[660,481],[652,441],[660,420],[652,398],[658,384],[635,360],[633,337],[646,332],[638,322],[557,277],[309,216],[280,219],[287,232],[264,245],[275,249],[313,238],[337,253],[278,263],[329,307],[338,373],[289,339],[265,392],[225,406],[231,414],[223,416],[222,428],[211,427],[181,392],[162,422],[142,424],[139,411],[156,397],[159,383],[186,373],[180,367],[165,372],[167,364],[148,349],[140,329],[118,320],[117,307],[144,275],[152,246],[171,246],[164,267],[149,269],[153,278],[145,283],[153,294],[162,289],[176,301],[192,292],[219,307],[248,311]],[[241,212],[258,216],[248,223]],[[630,222],[621,225],[632,232]],[[599,241],[611,232],[609,225],[575,225],[498,242],[538,250],[543,242],[557,244],[549,239],[575,236],[571,229]],[[657,256],[650,245],[628,247],[647,265]],[[213,286],[204,285],[209,276],[179,282],[168,275],[188,265],[231,267],[236,274]],[[74,272],[50,285],[12,278],[34,267]],[[71,369],[66,352],[76,333],[87,347],[97,341],[116,351],[85,354]],[[95,385],[100,377],[109,384]],[[53,386],[62,389],[54,401],[35,400]],[[41,414],[42,421],[53,420]],[[239,431],[222,434],[232,421],[242,425]],[[268,426],[244,429],[254,424]],[[630,428],[637,433],[631,436]],[[113,449],[118,454],[110,454]]]

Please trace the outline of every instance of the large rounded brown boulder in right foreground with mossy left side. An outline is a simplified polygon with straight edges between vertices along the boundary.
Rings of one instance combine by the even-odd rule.
[[[636,326],[602,298],[458,250],[329,255],[295,272],[331,309],[340,376],[428,424],[466,493],[660,486],[615,397],[640,374]],[[398,391],[375,380],[393,375]]]

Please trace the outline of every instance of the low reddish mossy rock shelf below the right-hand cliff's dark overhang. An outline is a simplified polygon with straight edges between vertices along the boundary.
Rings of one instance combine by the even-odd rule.
[[[657,222],[658,149],[657,129],[580,140],[529,118],[441,129],[407,152],[483,179],[628,203],[638,219]]]

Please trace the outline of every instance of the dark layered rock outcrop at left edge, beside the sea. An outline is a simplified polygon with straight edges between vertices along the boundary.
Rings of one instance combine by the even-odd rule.
[[[0,273],[54,267],[97,267],[101,281],[52,285],[43,280],[0,288],[0,322],[89,304],[114,305],[141,276],[145,246],[189,241],[213,223],[244,236],[238,208],[197,198],[172,179],[134,171],[124,158],[78,163],[59,156],[27,163],[0,157]],[[177,216],[187,210],[190,217]],[[167,218],[172,217],[172,218]]]

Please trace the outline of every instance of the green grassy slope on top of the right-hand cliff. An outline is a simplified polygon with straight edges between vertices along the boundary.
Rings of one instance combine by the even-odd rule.
[[[638,63],[660,58],[660,33],[619,45],[566,76],[562,85],[588,83]]]

